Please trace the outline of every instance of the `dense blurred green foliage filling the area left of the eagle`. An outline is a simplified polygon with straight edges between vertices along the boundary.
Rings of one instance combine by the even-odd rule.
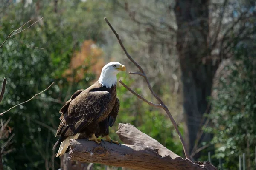
[[[62,13],[54,14],[53,6],[42,3],[41,11],[37,12],[45,16],[44,21],[8,39],[0,49],[0,81],[2,82],[3,77],[8,78],[0,112],[30,99],[55,82],[45,93],[3,116],[4,119],[12,117],[9,126],[15,134],[12,144],[15,151],[3,158],[3,164],[11,169],[51,167],[49,162],[52,160],[52,146],[57,140],[54,137],[55,130],[59,124],[58,111],[64,99],[67,100],[77,89],[88,87],[94,77],[86,72],[84,77],[89,77],[90,80],[86,81],[84,78],[79,83],[68,82],[63,77],[64,71],[70,66],[71,57],[84,40],[96,37],[99,42],[102,40],[99,36],[101,23],[92,18],[103,17],[100,14],[94,16],[94,12],[90,10],[95,8],[95,3],[92,2],[92,7],[84,9],[87,4],[65,3],[58,6]],[[22,6],[23,3],[15,4],[1,18],[0,42],[13,29],[30,20],[35,3],[32,2],[21,10]],[[85,21],[84,16],[88,20]],[[35,20],[37,19],[32,17],[32,22]],[[87,26],[87,31],[84,31],[84,26]],[[59,167],[58,162],[57,158],[55,169]]]

